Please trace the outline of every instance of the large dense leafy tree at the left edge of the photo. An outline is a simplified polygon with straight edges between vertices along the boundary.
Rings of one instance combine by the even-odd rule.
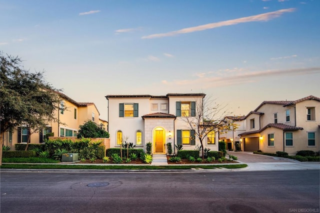
[[[0,52],[0,163],[4,132],[28,128],[26,150],[31,134],[55,120],[59,103],[57,89],[44,80],[43,72],[29,72],[21,63],[19,57]]]

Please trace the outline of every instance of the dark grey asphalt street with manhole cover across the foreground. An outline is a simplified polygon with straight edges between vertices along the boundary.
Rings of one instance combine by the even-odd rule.
[[[318,212],[319,170],[1,171],[1,212]]]

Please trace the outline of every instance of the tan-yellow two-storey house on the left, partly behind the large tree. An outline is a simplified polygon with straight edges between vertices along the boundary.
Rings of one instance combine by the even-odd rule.
[[[54,137],[72,137],[77,135],[79,125],[86,120],[92,120],[99,124],[99,111],[94,103],[77,102],[70,97],[57,92],[61,98],[59,109],[55,111],[57,121],[48,123],[47,128],[39,129],[30,136],[30,143],[44,142],[46,133],[52,132]],[[102,121],[107,125],[106,121]],[[33,130],[32,130],[33,131]],[[14,149],[15,143],[26,143],[30,129],[18,126],[14,131],[4,133],[4,145]]]

